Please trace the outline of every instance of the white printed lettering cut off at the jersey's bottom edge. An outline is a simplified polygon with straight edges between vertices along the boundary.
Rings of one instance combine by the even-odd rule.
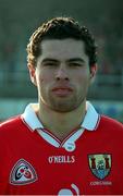
[[[58,196],[60,195],[70,195],[70,196],[78,196],[79,195],[79,189],[75,184],[71,184],[71,188],[62,188],[59,191]]]

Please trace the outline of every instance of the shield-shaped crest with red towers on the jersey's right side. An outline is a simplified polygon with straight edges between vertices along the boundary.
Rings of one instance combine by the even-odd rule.
[[[98,154],[88,156],[89,168],[94,175],[103,180],[111,170],[111,155]]]

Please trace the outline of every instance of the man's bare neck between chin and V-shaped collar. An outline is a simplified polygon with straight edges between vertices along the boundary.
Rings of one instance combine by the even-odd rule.
[[[38,118],[44,126],[63,140],[73,130],[77,128],[86,112],[86,100],[71,112],[57,112],[39,103]]]

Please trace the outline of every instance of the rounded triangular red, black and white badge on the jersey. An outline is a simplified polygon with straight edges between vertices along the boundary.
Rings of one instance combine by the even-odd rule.
[[[37,174],[30,163],[20,159],[13,167],[10,174],[10,183],[14,185],[29,184],[37,181]]]

